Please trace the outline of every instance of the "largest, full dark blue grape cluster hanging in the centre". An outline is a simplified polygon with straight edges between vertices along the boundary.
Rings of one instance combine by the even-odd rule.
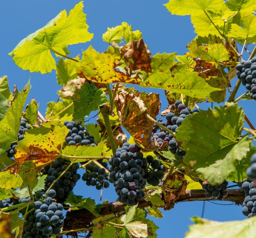
[[[148,173],[148,160],[140,148],[136,144],[124,143],[108,162],[108,181],[114,184],[119,201],[128,206],[137,204],[145,195],[141,189],[146,185],[144,175]]]

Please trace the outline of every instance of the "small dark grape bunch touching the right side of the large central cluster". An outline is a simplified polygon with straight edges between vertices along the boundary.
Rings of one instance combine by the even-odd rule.
[[[166,167],[159,160],[154,159],[152,155],[148,155],[146,159],[148,160],[148,173],[145,175],[147,183],[158,186],[164,177]]]

